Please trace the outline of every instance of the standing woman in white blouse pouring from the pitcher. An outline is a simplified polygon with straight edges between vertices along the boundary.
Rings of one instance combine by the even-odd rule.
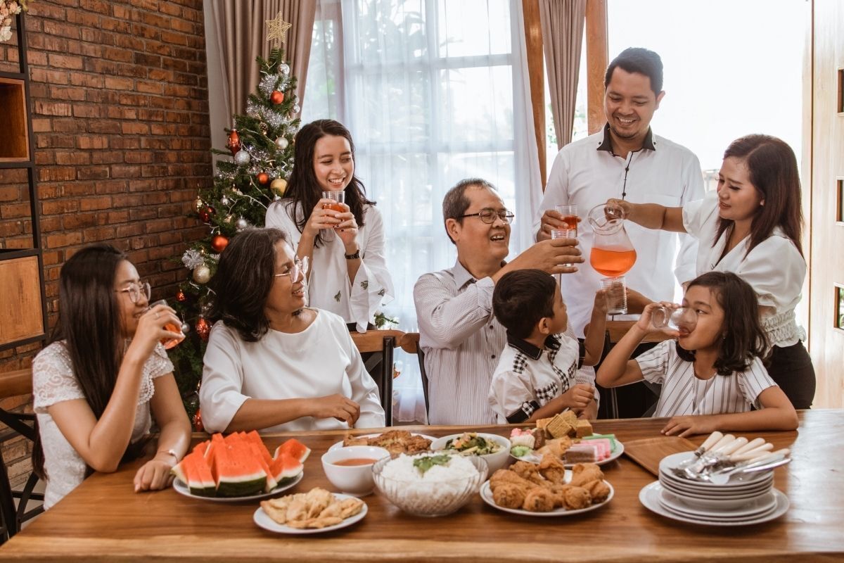
[[[724,152],[717,192],[665,208],[608,202],[650,229],[688,232],[701,241],[697,273],[737,273],[759,298],[762,328],[772,346],[768,372],[795,409],[814,398],[814,367],[794,317],[806,277],[800,244],[803,217],[793,150],[768,135],[738,138]]]

